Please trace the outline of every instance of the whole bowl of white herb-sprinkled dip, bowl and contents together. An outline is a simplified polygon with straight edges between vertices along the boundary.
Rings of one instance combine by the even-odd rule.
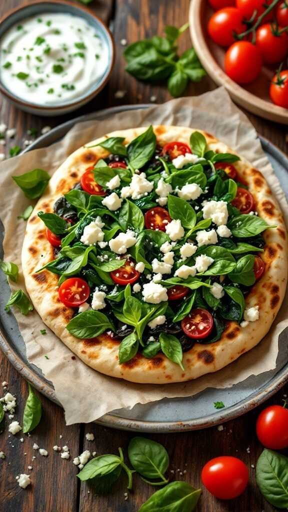
[[[113,63],[112,35],[86,7],[37,0],[0,20],[0,91],[26,112],[80,108],[104,88]]]

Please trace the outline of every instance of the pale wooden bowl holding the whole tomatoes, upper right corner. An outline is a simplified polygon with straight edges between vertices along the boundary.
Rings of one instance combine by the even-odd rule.
[[[274,105],[269,98],[269,83],[275,68],[262,67],[259,77],[247,86],[239,86],[223,71],[225,49],[216,45],[207,32],[208,20],[213,14],[207,0],[191,0],[189,11],[190,32],[193,47],[203,68],[219,85],[224,86],[231,98],[258,116],[288,123],[288,110]]]

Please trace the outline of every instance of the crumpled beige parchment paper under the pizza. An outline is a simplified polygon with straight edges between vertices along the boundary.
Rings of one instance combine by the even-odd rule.
[[[128,111],[103,121],[79,123],[59,143],[35,150],[3,162],[0,166],[0,217],[5,226],[5,259],[20,265],[25,223],[17,220],[29,201],[14,184],[12,175],[23,174],[36,167],[53,174],[57,167],[79,146],[113,130],[136,126],[167,124],[191,126],[206,130],[230,145],[261,170],[278,199],[286,225],[288,210],[280,183],[265,157],[253,125],[232,103],[223,88],[193,98],[171,100],[148,110]],[[23,286],[23,278],[17,286]],[[15,285],[11,285],[15,289]],[[53,382],[57,398],[64,407],[67,424],[90,422],[109,411],[131,409],[136,403],[147,403],[164,397],[192,396],[208,387],[227,388],[250,375],[272,370],[276,366],[278,336],[288,326],[287,296],[269,334],[261,343],[233,364],[197,380],[163,386],[134,384],[102,375],[72,359],[73,353],[50,331],[33,311],[23,316],[14,310],[24,338],[27,357]],[[40,329],[47,329],[47,335]],[[45,355],[49,359],[45,358]]]

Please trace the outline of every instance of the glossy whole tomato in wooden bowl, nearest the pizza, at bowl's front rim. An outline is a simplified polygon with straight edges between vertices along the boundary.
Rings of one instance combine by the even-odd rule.
[[[259,49],[249,41],[237,41],[225,54],[224,70],[237,83],[250,83],[262,67]]]

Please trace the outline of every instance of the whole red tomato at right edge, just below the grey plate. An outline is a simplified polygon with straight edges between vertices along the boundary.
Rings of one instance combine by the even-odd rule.
[[[258,416],[257,437],[266,448],[282,450],[288,446],[288,409],[270,406]]]

